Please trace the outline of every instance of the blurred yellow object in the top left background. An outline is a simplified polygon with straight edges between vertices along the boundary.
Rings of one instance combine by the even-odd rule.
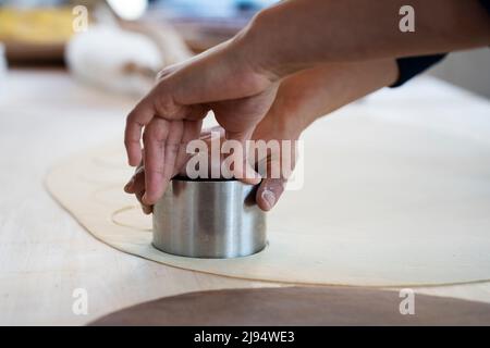
[[[73,35],[71,8],[0,8],[0,41],[64,44]]]

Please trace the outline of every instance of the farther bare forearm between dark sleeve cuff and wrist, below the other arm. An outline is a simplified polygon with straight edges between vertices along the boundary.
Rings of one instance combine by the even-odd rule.
[[[397,78],[393,59],[331,63],[285,78],[272,108],[256,129],[255,138],[279,132],[284,139],[298,138],[315,120],[333,112]]]

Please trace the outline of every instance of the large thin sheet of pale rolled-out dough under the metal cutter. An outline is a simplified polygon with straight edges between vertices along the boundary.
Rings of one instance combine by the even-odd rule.
[[[478,134],[481,129],[476,128]],[[305,134],[305,185],[268,216],[269,247],[232,260],[154,249],[151,220],[122,187],[122,141],[47,178],[94,236],[146,259],[233,277],[401,286],[490,279],[490,144],[455,129],[343,114]]]

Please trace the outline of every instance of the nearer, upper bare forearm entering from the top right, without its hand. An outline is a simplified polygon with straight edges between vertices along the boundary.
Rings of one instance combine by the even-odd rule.
[[[415,9],[415,32],[399,28]],[[249,60],[278,77],[335,61],[449,52],[490,44],[477,0],[290,0],[259,13],[241,35]]]

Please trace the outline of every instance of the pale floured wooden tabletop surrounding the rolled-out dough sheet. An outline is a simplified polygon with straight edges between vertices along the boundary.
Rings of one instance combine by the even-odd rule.
[[[0,77],[0,324],[79,325],[170,295],[280,286],[174,269],[117,251],[51,199],[42,184],[47,170],[73,152],[119,137],[135,101],[87,88],[63,71],[11,71],[5,80]],[[354,109],[407,123],[424,120],[490,141],[490,102],[428,77],[342,112]],[[461,123],[462,115],[467,123]],[[88,315],[72,311],[76,288],[88,293]],[[490,302],[489,282],[415,291]]]

